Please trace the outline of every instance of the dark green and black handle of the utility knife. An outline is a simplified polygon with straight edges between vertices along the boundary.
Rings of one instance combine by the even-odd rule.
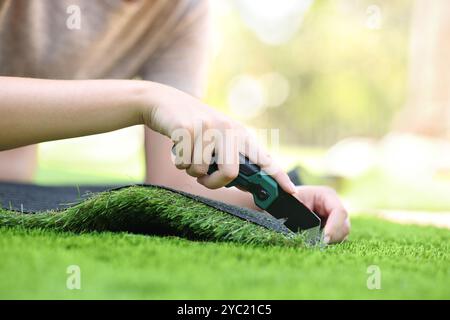
[[[217,170],[214,162],[209,166],[208,174]],[[243,154],[239,154],[239,175],[226,187],[240,187],[252,193],[255,204],[263,210],[278,198],[278,183]]]

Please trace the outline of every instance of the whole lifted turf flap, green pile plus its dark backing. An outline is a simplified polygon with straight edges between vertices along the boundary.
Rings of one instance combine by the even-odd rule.
[[[127,231],[198,240],[303,244],[302,235],[293,234],[270,215],[160,186],[136,185],[107,191],[101,191],[107,187],[98,186],[89,187],[91,192],[97,193],[88,194],[78,193],[78,190],[87,190],[84,188],[66,187],[69,189],[65,190],[77,190],[75,198],[68,204],[57,203],[56,207],[50,198],[58,194],[57,187],[26,186],[28,192],[35,190],[40,198],[23,198],[16,190],[15,202],[7,200],[11,190],[18,186],[0,184],[0,227],[22,226],[77,233]],[[61,193],[60,189],[59,195]],[[49,198],[45,199],[46,195]],[[42,208],[44,203],[49,206],[45,210],[36,210],[39,212],[34,214],[21,212],[34,212],[30,209]]]

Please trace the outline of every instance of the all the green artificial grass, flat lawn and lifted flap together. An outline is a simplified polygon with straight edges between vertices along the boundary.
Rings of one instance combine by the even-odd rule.
[[[107,231],[132,222],[203,241]],[[105,193],[64,214],[3,211],[0,225],[3,299],[450,298],[450,232],[432,227],[358,217],[347,243],[307,248],[156,188]],[[66,288],[69,265],[81,268],[81,290]],[[370,265],[380,290],[367,288]]]

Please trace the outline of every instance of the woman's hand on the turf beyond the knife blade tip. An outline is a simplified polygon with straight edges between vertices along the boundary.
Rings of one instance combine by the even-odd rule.
[[[325,223],[324,241],[337,243],[347,239],[350,218],[336,192],[328,187],[298,186],[294,196]]]

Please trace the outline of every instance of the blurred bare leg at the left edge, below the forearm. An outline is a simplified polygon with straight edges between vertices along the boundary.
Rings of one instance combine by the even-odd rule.
[[[36,167],[36,145],[0,152],[0,181],[32,182]]]

